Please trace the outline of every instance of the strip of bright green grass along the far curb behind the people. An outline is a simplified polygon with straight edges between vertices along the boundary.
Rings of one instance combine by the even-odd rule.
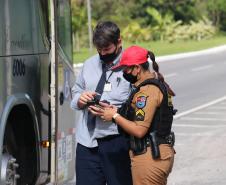
[[[226,36],[217,36],[209,40],[202,41],[178,41],[174,43],[169,43],[166,41],[150,41],[148,43],[123,43],[123,46],[124,48],[127,48],[131,45],[139,45],[153,51],[156,56],[163,56],[189,51],[198,51],[223,44],[226,44]],[[88,48],[83,48],[80,52],[74,52],[74,63],[83,63],[85,59],[94,54],[96,54],[95,48],[92,52],[89,52]]]

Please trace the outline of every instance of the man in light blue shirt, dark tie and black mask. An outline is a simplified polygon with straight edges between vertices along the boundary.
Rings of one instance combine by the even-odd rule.
[[[72,88],[71,107],[81,112],[76,123],[76,185],[131,185],[128,142],[111,120],[103,124],[97,105],[104,100],[120,105],[131,89],[122,71],[110,70],[122,53],[118,26],[99,22],[93,43],[98,54],[84,62]]]

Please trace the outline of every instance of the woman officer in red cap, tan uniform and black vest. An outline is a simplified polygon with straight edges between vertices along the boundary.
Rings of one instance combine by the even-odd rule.
[[[120,109],[105,107],[101,118],[113,120],[129,134],[133,185],[165,185],[174,161],[174,112],[169,86],[156,79],[154,54],[139,46],[123,52],[113,70],[120,68],[135,88]]]

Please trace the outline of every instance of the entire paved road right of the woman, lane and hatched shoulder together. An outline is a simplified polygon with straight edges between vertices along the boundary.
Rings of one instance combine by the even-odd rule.
[[[160,62],[160,69],[179,110],[168,185],[225,185],[226,51]]]

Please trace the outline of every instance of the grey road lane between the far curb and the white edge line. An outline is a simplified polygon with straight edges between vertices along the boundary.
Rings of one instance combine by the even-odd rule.
[[[226,49],[160,62],[159,66],[176,92],[179,113],[226,95]]]

